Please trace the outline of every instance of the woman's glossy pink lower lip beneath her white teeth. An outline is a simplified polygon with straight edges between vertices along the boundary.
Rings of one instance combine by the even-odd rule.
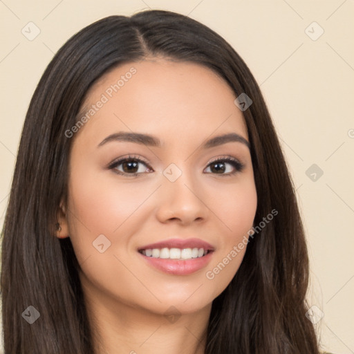
[[[213,253],[214,252],[209,252],[205,254],[205,256],[199,258],[176,261],[174,259],[147,257],[139,252],[140,256],[144,257],[144,259],[149,264],[153,265],[153,267],[162,270],[162,272],[173,275],[188,275],[197,270],[201,270],[207,265],[207,263],[209,263]]]

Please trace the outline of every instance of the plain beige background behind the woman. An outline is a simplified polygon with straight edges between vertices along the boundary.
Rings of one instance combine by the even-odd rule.
[[[143,8],[201,21],[250,67],[297,187],[311,261],[309,301],[324,314],[316,325],[323,348],[354,353],[353,0],[0,1],[0,226],[24,116],[53,53],[95,20]],[[41,31],[32,41],[21,33],[30,21]],[[322,176],[306,175],[313,164]]]

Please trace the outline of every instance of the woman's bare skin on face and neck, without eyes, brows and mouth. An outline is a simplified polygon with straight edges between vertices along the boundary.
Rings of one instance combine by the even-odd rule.
[[[201,354],[212,301],[236,274],[245,248],[214,279],[205,274],[248,236],[257,193],[246,145],[200,147],[223,133],[248,140],[248,131],[221,77],[198,64],[164,58],[106,73],[88,91],[82,111],[132,66],[136,74],[73,136],[68,201],[60,205],[57,237],[70,236],[80,263],[97,353]],[[162,147],[118,141],[97,147],[118,131],[151,134]],[[106,168],[129,154],[148,162],[138,165],[139,176]],[[244,169],[225,176],[235,171],[229,162],[221,162],[221,174],[210,167],[214,158],[227,156]],[[174,182],[163,174],[171,163],[182,171]],[[117,169],[132,173],[122,164]],[[93,247],[100,234],[111,242],[103,253]],[[211,261],[192,274],[173,275],[147,265],[137,252],[172,237],[211,243]],[[171,306],[179,318],[164,315]]]

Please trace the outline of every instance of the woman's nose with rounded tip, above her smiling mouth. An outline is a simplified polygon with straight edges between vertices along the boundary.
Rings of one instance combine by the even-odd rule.
[[[202,186],[186,173],[174,182],[163,177],[158,194],[156,217],[161,223],[178,221],[183,225],[201,223],[209,213]],[[210,206],[209,206],[210,207]]]

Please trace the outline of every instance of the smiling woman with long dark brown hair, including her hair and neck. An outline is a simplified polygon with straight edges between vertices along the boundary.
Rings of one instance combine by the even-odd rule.
[[[295,190],[241,57],[112,16],[32,97],[3,229],[5,353],[319,353]]]

